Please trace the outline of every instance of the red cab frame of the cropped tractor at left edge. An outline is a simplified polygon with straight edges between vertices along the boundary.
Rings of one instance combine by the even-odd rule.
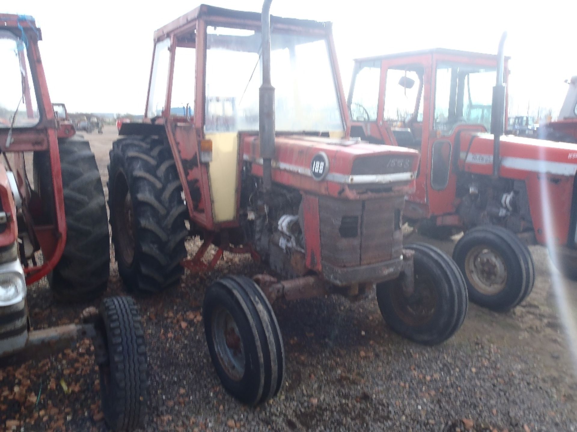
[[[31,20],[19,19],[17,15],[0,14],[0,22],[3,24],[2,29],[13,32],[14,35],[20,36],[25,33],[28,39],[27,54],[28,66],[31,71],[31,78],[34,82],[36,97],[38,99],[38,112],[40,122],[31,128],[14,128],[12,131],[13,142],[9,149],[5,148],[8,130],[0,129],[0,148],[2,151],[38,151],[48,150],[50,153],[50,164],[52,167],[52,183],[54,191],[54,209],[55,209],[55,226],[40,227],[33,226],[32,220],[26,218],[26,222],[32,225],[33,232],[36,233],[40,241],[40,246],[44,256],[42,266],[33,269],[25,269],[28,277],[27,283],[36,282],[46,276],[62,256],[66,244],[66,219],[64,215],[64,198],[62,193],[62,173],[60,168],[60,157],[58,153],[57,122],[54,116],[46,76],[42,66],[42,59],[38,50],[38,41],[42,39],[42,32]],[[21,58],[21,61],[24,59]],[[31,95],[28,94],[28,97]],[[25,95],[25,97],[27,97]],[[29,105],[31,106],[31,105]],[[18,156],[16,154],[15,156]],[[16,166],[12,167],[18,182],[20,190],[24,191],[24,162],[23,158],[16,157]],[[23,196],[23,206],[28,206],[28,196]],[[26,215],[27,212],[24,211]],[[40,240],[42,239],[42,240]],[[23,263],[27,266],[27,263]]]

